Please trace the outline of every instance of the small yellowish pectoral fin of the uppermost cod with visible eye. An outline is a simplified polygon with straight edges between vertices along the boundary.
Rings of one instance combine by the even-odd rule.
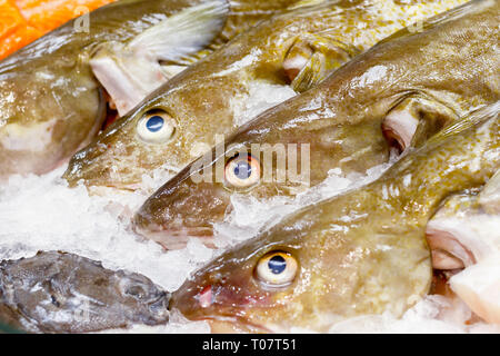
[[[307,33],[298,38],[288,51],[283,69],[293,90],[303,92],[319,85],[358,53],[360,50],[353,46]]]

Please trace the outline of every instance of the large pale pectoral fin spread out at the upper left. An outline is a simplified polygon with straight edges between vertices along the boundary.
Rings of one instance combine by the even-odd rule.
[[[222,30],[228,11],[226,0],[210,1],[171,16],[128,44],[101,44],[90,66],[119,115],[186,69],[186,58],[208,47]]]

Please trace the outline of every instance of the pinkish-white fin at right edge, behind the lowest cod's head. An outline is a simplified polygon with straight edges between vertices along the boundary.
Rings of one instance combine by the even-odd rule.
[[[488,323],[500,324],[500,171],[480,191],[447,199],[427,226],[432,265]],[[458,273],[457,273],[458,271]]]

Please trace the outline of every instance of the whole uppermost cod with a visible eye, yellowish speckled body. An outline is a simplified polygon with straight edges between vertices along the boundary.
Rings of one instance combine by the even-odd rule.
[[[74,155],[64,178],[134,190],[156,169],[177,174],[218,136],[314,87],[404,26],[466,1],[319,2],[259,23],[174,77]]]

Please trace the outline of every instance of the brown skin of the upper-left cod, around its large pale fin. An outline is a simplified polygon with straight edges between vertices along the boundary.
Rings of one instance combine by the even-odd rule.
[[[89,60],[100,44],[131,41],[182,9],[210,1],[118,1],[90,13],[89,32],[74,30],[84,23],[77,19],[1,61],[0,178],[50,171],[96,136],[106,101]],[[224,0],[220,2],[226,7]],[[290,3],[232,2],[226,24],[211,44],[228,41]]]

